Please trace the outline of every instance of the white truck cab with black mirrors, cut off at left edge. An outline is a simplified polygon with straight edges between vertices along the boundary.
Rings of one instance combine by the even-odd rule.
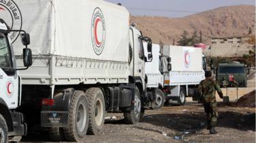
[[[23,61],[25,68],[16,67],[14,48],[10,39],[11,32],[23,32],[22,43],[26,48],[23,50]],[[0,142],[19,142],[27,133],[27,125],[23,114],[17,112],[21,101],[21,79],[18,71],[27,69],[32,64],[31,50],[29,45],[29,34],[23,30],[11,30],[0,18]],[[23,62],[22,62],[23,63]]]

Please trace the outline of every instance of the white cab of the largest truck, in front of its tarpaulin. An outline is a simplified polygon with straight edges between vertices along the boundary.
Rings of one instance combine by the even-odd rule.
[[[136,84],[141,93],[141,105],[145,105],[147,101],[147,97],[145,97],[147,84],[145,63],[152,62],[152,40],[149,37],[143,37],[141,31],[136,29],[134,24],[130,27],[129,54],[130,80],[133,80],[132,82]]]

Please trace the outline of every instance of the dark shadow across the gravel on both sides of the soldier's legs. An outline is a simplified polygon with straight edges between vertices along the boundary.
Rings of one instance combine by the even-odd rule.
[[[240,114],[237,112],[218,112],[217,127],[239,129],[241,131],[255,131],[255,114]],[[154,114],[145,116],[143,123],[167,127],[175,131],[201,130],[205,122],[204,113],[188,114]]]

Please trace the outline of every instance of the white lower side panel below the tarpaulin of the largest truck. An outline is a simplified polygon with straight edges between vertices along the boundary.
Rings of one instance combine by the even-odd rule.
[[[23,64],[21,57],[16,59]],[[20,71],[23,84],[35,85],[128,83],[128,75],[128,62],[55,55],[33,56],[33,66]]]

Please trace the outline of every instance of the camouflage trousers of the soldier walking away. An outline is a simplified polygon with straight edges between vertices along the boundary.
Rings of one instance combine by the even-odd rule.
[[[205,113],[206,113],[206,119],[208,126],[215,127],[217,120],[218,120],[218,112],[216,110],[217,103],[214,102],[206,102],[203,104]]]

